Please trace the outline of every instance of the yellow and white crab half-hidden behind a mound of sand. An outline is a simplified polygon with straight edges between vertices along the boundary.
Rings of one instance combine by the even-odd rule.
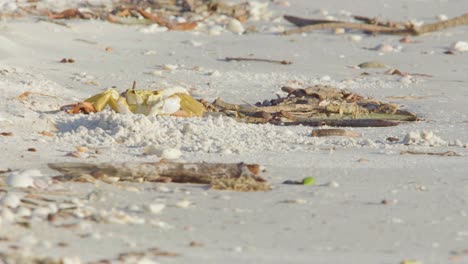
[[[109,106],[118,113],[144,114],[148,116],[172,115],[179,117],[201,117],[205,107],[189,95],[182,87],[162,90],[132,89],[120,93],[109,88],[102,93],[91,96],[84,102],[64,106],[68,113],[95,113]]]

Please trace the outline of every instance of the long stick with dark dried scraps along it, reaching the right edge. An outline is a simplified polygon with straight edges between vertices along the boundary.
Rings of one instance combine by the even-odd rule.
[[[420,24],[415,21],[410,22],[381,22],[375,18],[354,16],[358,22],[346,22],[338,20],[306,19],[290,15],[285,15],[284,19],[295,24],[299,28],[284,31],[283,35],[300,34],[313,30],[344,28],[347,30],[360,30],[371,34],[390,35],[422,35],[435,31],[444,30],[451,27],[468,25],[468,13],[444,21],[437,21],[432,24]]]

